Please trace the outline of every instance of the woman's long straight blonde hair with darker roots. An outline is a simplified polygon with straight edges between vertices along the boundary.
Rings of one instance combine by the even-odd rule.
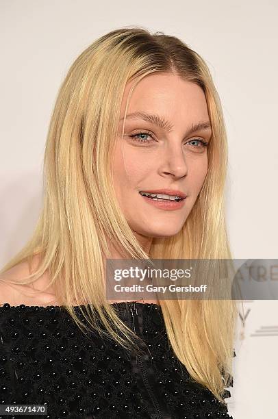
[[[127,82],[138,83],[157,71],[174,73],[203,89],[213,134],[207,176],[186,223],[175,236],[153,238],[147,255],[118,205],[110,155]],[[23,261],[30,269],[38,255],[37,268],[30,269],[31,275],[21,283],[30,284],[49,272],[49,286],[81,330],[88,329],[74,304],[86,302],[81,312],[90,327],[103,333],[95,310],[107,335],[129,350],[139,338],[105,298],[105,257],[112,257],[109,243],[129,259],[231,259],[225,224],[226,171],[223,112],[201,56],[162,32],[151,34],[142,27],[110,31],[79,55],[60,87],[47,135],[40,218],[29,242],[1,272]],[[225,403],[223,391],[233,375],[236,301],[162,300],[160,305],[175,355],[193,379]]]

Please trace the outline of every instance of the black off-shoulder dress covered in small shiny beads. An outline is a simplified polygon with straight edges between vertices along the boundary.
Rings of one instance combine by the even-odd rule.
[[[35,405],[41,412],[0,419],[231,418],[175,357],[160,305],[113,305],[151,355],[131,355],[95,331],[84,335],[60,306],[0,307],[0,407]],[[230,396],[225,390],[224,398]],[[37,405],[47,405],[47,414]]]

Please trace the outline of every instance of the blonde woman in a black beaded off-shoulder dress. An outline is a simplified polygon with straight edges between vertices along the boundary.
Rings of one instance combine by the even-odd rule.
[[[184,42],[127,27],[81,53],[51,118],[36,231],[1,270],[2,404],[231,418],[235,301],[105,295],[108,259],[231,258],[226,166],[218,94]]]

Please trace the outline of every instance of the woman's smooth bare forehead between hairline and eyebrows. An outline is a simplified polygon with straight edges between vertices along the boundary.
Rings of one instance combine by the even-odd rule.
[[[134,81],[125,87],[121,118],[125,114],[127,97],[133,85]],[[192,123],[194,120],[209,119],[207,102],[201,87],[168,73],[147,75],[138,82],[129,99],[127,113],[137,111],[160,114],[174,125],[184,124],[186,120]]]

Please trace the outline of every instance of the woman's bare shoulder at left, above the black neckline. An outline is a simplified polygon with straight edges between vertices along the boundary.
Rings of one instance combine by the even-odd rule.
[[[37,259],[32,262],[36,264]],[[22,284],[21,281],[30,274],[29,264],[21,262],[9,270],[0,274],[0,305],[9,303],[10,305],[55,305],[56,300],[51,290],[42,292],[42,288],[47,285],[49,277],[47,272],[38,278],[34,283]],[[14,281],[16,283],[10,283]]]

